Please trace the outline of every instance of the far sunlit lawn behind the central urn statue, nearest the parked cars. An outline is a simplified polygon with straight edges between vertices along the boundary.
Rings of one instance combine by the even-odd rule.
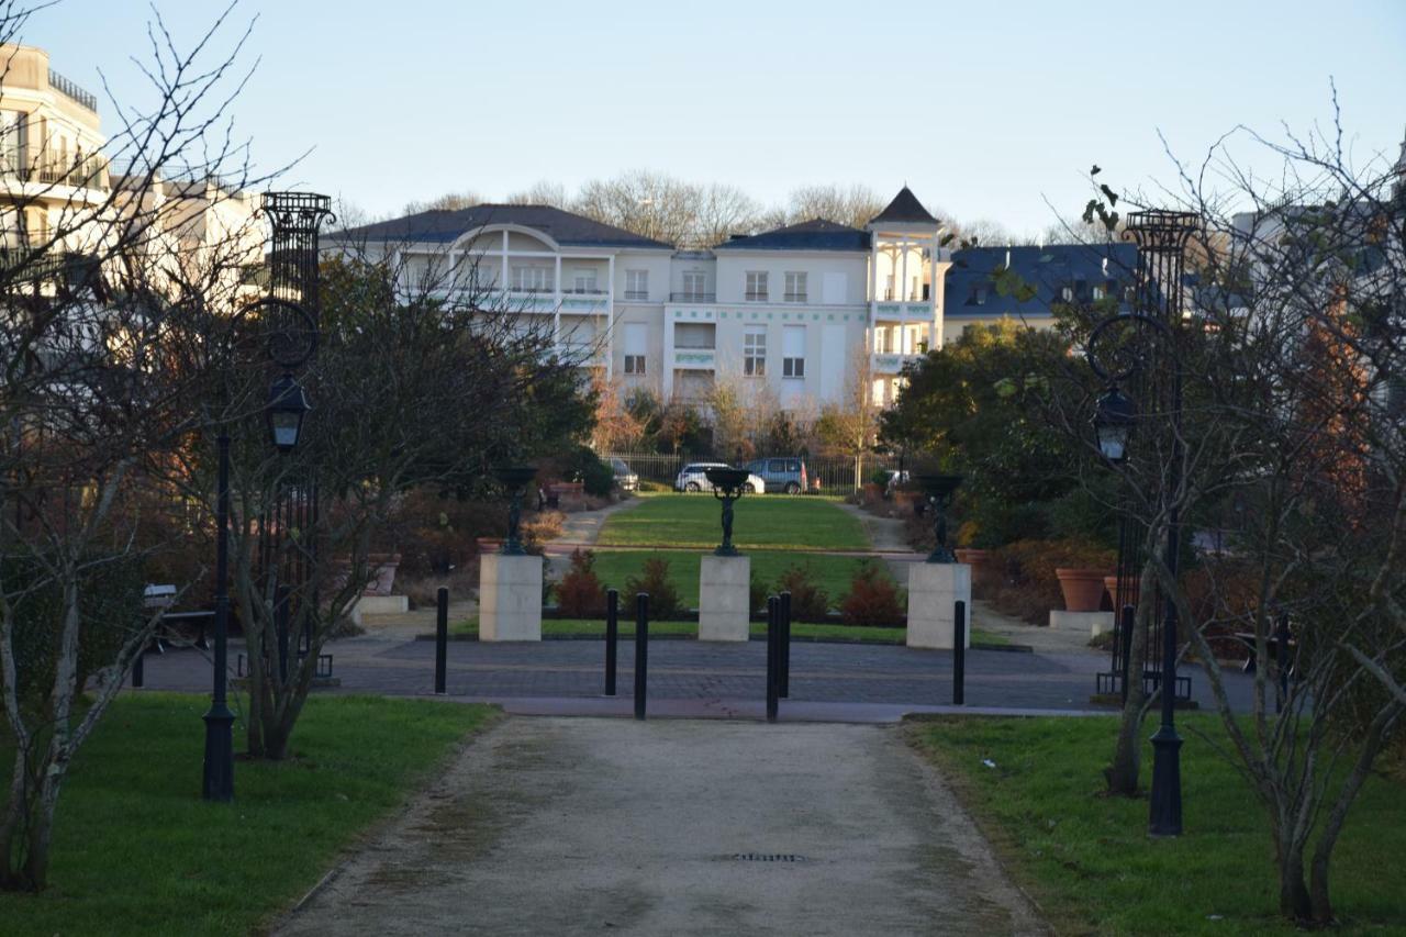
[[[810,495],[747,495],[737,502],[733,540],[741,550],[868,550],[863,525],[831,501]],[[669,494],[610,515],[603,546],[713,549],[721,508],[710,494]]]

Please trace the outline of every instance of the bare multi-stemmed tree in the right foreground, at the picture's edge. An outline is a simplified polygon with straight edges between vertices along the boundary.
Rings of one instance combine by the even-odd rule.
[[[1343,139],[1336,121],[1277,142],[1241,129],[1163,193],[1204,225],[1195,301],[1159,359],[1185,391],[1177,421],[1144,409],[1119,467],[1149,547],[1170,509],[1215,518],[1227,543],[1180,577],[1149,549],[1139,619],[1175,609],[1222,716],[1225,741],[1206,741],[1270,819],[1279,907],[1319,926],[1339,834],[1406,712],[1406,166],[1354,167]],[[1240,170],[1230,145],[1244,141],[1284,160],[1279,189]],[[1114,221],[1104,194],[1092,214]],[[1147,338],[1133,329],[1123,349]],[[1087,440],[1102,388],[1069,376],[1084,385],[1063,425]],[[1249,718],[1218,663],[1241,642],[1260,663]]]

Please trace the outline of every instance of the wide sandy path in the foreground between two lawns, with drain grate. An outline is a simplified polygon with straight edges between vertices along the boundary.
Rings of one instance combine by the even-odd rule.
[[[276,930],[1045,931],[898,729],[520,718]]]

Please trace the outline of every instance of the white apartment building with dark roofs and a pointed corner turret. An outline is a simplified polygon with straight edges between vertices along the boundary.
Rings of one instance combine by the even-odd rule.
[[[323,249],[395,253],[409,279],[472,269],[506,304],[551,317],[564,349],[627,390],[700,402],[818,408],[865,385],[893,400],[900,369],[942,340],[941,225],[904,187],[865,229],[824,219],[673,245],[548,205],[426,211],[342,231]]]

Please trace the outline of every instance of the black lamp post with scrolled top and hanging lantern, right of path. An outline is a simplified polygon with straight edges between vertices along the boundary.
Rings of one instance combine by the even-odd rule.
[[[1098,342],[1115,326],[1128,324],[1152,326],[1171,348],[1173,332],[1166,324],[1146,315],[1114,315],[1098,325],[1088,336],[1088,363],[1099,378],[1108,381],[1108,391],[1098,398],[1094,409],[1094,435],[1098,450],[1112,464],[1128,460],[1128,447],[1137,425],[1137,407],[1118,390],[1118,381],[1136,374],[1143,363],[1137,350],[1122,369],[1108,371],[1098,363]],[[1181,484],[1181,363],[1173,359],[1171,380],[1171,459],[1167,467],[1166,492],[1175,498]],[[1163,561],[1177,578],[1177,556],[1181,549],[1181,518],[1175,501],[1167,509],[1167,547]],[[1140,675],[1139,675],[1140,678]],[[1181,836],[1181,737],[1177,734],[1177,604],[1171,595],[1163,611],[1161,620],[1161,726],[1152,737],[1152,801],[1147,831],[1152,836]]]

